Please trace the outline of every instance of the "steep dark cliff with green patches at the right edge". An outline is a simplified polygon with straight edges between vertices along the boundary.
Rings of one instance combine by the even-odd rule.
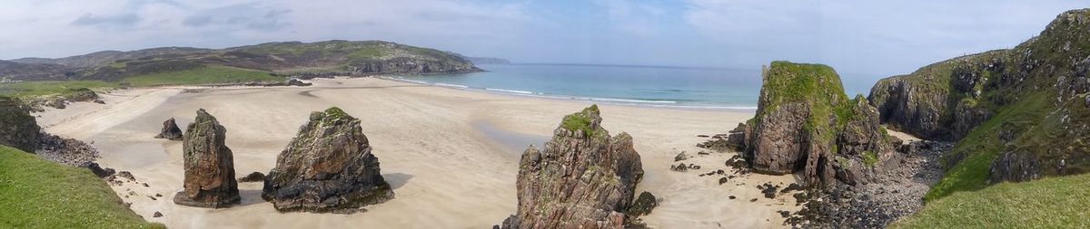
[[[1020,181],[1090,171],[1088,76],[1090,9],[1082,9],[1014,49],[883,79],[870,101],[893,128],[959,141],[948,165],[991,161],[992,181]]]

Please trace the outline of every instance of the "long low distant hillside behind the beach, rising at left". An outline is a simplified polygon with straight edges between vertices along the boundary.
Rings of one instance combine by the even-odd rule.
[[[459,54],[387,41],[272,42],[227,49],[155,48],[101,51],[61,59],[4,62],[0,76],[16,80],[94,79],[235,67],[277,75],[328,76],[477,72]],[[10,69],[9,69],[10,68]]]

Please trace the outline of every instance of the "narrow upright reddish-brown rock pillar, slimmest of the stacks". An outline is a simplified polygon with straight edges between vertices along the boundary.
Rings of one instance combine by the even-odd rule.
[[[223,145],[227,129],[204,109],[185,129],[182,158],[185,190],[174,194],[174,203],[196,207],[227,207],[238,204],[239,183],[234,180],[234,156]]]

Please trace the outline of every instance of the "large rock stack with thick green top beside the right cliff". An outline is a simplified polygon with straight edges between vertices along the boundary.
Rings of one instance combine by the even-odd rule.
[[[773,62],[763,71],[756,116],[725,144],[746,152],[755,171],[803,171],[810,186],[865,181],[899,142],[879,126],[877,110],[848,100],[832,67]]]

